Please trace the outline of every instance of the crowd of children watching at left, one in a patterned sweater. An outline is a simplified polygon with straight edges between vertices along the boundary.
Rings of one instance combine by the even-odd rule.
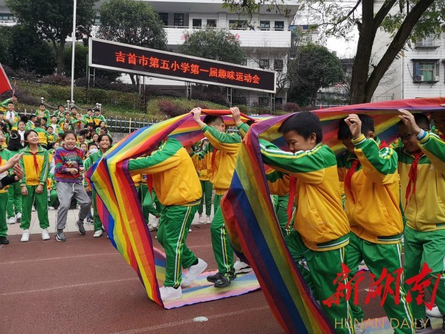
[[[48,209],[54,209],[56,202],[56,240],[65,241],[63,230],[73,198],[80,208],[76,222],[79,233],[86,234],[83,221],[87,218],[87,223],[95,225],[93,237],[101,237],[104,230],[97,214],[95,193],[83,175],[113,143],[104,116],[99,110],[93,115],[92,109],[88,109],[87,114],[80,117],[76,108],[65,112],[63,106],[51,116],[41,104],[35,115],[26,121],[25,117],[19,119],[15,112],[15,100],[13,97],[2,103],[6,113],[0,113],[0,165],[7,164],[15,153],[20,153],[19,166],[23,175],[19,182],[0,189],[3,203],[0,205],[3,208],[0,210],[0,244],[9,243],[7,224],[16,222],[23,230],[21,241],[29,241],[32,211],[37,211],[42,239],[50,239]],[[72,131],[74,129],[77,133]],[[9,174],[17,175],[15,170],[10,170]],[[3,177],[0,175],[1,180]]]

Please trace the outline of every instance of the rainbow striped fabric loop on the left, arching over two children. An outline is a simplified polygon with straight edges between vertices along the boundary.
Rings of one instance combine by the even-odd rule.
[[[232,116],[228,116],[230,111],[203,110],[202,113],[223,116],[228,126],[234,126]],[[248,120],[252,118],[243,116],[244,122]],[[136,271],[149,299],[159,305],[163,303],[156,279],[152,238],[128,171],[128,161],[147,154],[167,136],[177,138],[185,146],[196,143],[204,134],[191,113],[177,116],[129,134],[87,173],[97,191],[97,211],[111,243]]]

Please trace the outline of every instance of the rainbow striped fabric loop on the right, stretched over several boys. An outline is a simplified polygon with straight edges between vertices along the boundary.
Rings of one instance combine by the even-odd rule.
[[[375,134],[382,141],[391,143],[396,138],[397,109],[445,110],[439,106],[444,102],[445,99],[402,100],[322,109],[314,113],[323,125],[323,143],[339,153],[344,150],[337,139],[339,120],[350,113],[369,113],[374,118]],[[252,125],[241,145],[232,184],[223,197],[221,207],[234,250],[254,269],[270,310],[282,328],[287,333],[335,333],[312,299],[284,244],[270,200],[264,165],[258,164],[261,161],[259,138],[285,148],[284,139],[277,129],[290,116],[279,116]]]

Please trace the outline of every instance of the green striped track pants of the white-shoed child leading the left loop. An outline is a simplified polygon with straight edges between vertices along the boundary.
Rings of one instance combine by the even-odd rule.
[[[163,207],[157,239],[165,250],[165,287],[179,287],[182,268],[189,268],[197,261],[195,254],[186,245],[188,229],[196,210],[197,205]]]

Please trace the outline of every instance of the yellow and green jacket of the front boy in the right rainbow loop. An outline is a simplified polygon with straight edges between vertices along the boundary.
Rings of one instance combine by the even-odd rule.
[[[307,248],[325,251],[346,246],[350,228],[341,204],[334,152],[322,143],[295,154],[264,139],[259,140],[259,146],[264,164],[297,178],[298,210],[293,228]]]

